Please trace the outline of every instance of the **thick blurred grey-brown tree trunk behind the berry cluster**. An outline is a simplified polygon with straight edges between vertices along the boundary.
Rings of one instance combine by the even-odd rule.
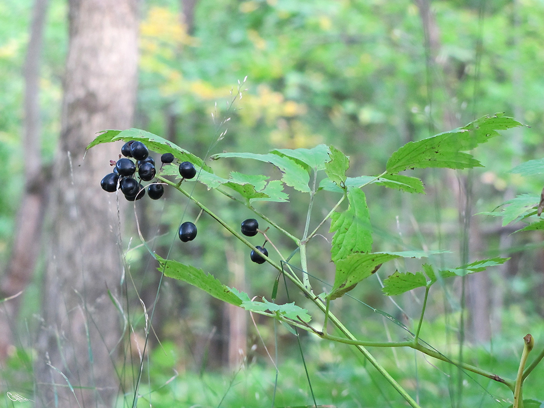
[[[36,404],[111,407],[122,275],[115,194],[100,180],[120,145],[85,146],[131,125],[137,85],[136,0],[70,0],[63,114],[48,218],[48,262],[36,358]],[[73,387],[73,391],[70,388]],[[76,400],[77,399],[77,400]]]

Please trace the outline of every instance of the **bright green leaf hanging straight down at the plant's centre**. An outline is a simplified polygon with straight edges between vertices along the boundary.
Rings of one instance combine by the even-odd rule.
[[[353,252],[372,250],[372,226],[367,200],[362,190],[348,187],[349,207],[344,212],[331,215],[332,237],[331,259],[347,258]]]

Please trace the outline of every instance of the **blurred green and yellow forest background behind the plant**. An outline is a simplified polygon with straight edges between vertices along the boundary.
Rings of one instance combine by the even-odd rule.
[[[44,8],[37,13],[39,7]],[[47,308],[44,292],[50,290],[46,275],[55,259],[51,236],[63,233],[55,230],[59,215],[48,208],[57,202],[58,186],[53,186],[59,175],[58,154],[64,146],[61,118],[70,44],[68,10],[69,4],[58,0],[0,3],[0,160],[4,164],[0,298],[16,295],[0,306],[3,327],[8,327],[3,333],[10,333],[1,342],[1,387],[4,394],[13,390],[27,398],[35,395],[39,377],[35,362],[40,356],[42,312]],[[44,17],[43,37],[34,50],[30,48],[32,33],[40,22],[33,13]],[[529,330],[537,340],[544,338],[542,234],[510,235],[516,226],[504,227],[502,220],[479,213],[491,212],[518,194],[538,195],[542,189],[540,177],[509,172],[517,164],[540,158],[544,151],[542,1],[172,0],[140,2],[137,13],[138,88],[133,120],[126,127],[161,135],[201,157],[222,151],[266,153],[274,148],[311,148],[325,143],[350,157],[350,174],[379,174],[399,146],[485,114],[505,112],[529,125],[503,132],[478,149],[476,156],[485,165],[483,169],[417,171],[425,182],[425,195],[384,192],[378,187],[367,192],[373,227],[380,237],[375,243],[378,248],[402,242],[410,248],[448,249],[458,264],[463,259],[511,257],[503,267],[469,277],[466,298],[461,299],[459,282],[434,294],[427,318],[440,330],[430,332],[426,340],[455,348],[463,333],[463,346],[478,361],[516,372],[521,354],[517,339]],[[123,18],[118,18],[121,24]],[[38,57],[34,71],[28,68],[32,56]],[[97,59],[96,64],[109,61]],[[243,98],[229,108],[230,91],[236,91],[245,77]],[[37,87],[37,113],[26,104],[29,83]],[[226,118],[230,118],[228,126],[220,126]],[[29,129],[35,129],[34,137],[29,137]],[[218,129],[227,129],[227,133],[215,144]],[[95,134],[82,137],[83,149],[71,152],[77,166],[84,163],[84,146]],[[115,154],[109,158],[116,159]],[[109,172],[108,160],[101,163],[96,164],[93,175]],[[225,174],[230,170],[264,171],[257,164],[244,169],[237,169],[236,162],[230,168],[219,164],[223,165]],[[145,312],[140,300],[151,308],[160,280],[157,265],[139,245],[135,215],[140,232],[154,248],[169,248],[174,242],[170,258],[190,259],[233,286],[269,296],[275,276],[251,263],[243,246],[225,243],[224,233],[213,220],[200,219],[197,241],[190,247],[181,245],[176,233],[181,217],[187,215],[183,197],[167,193],[166,200],[141,200],[135,209],[121,205],[116,221],[118,207],[98,187],[100,178],[90,181],[92,187],[83,186],[89,193],[95,189],[92,194],[103,202],[103,211],[110,213],[110,218],[104,215],[103,222],[95,219],[94,224],[98,234],[113,234],[114,252],[123,261],[122,266],[112,268],[117,271],[113,281],[122,286],[126,275],[121,270],[129,270],[134,281],[132,291],[119,298],[123,311],[131,311],[131,329],[123,344],[133,344],[134,349],[123,348],[125,359],[121,359],[128,372],[139,367],[137,349],[146,337],[146,312],[151,310]],[[71,180],[83,181],[88,180]],[[34,202],[34,217],[30,217],[28,209],[23,211],[27,208],[23,207],[24,197],[35,191],[41,198]],[[210,200],[222,207],[222,216],[232,225],[252,215],[221,200]],[[331,203],[315,211],[323,212],[327,205],[330,208]],[[293,230],[304,226],[300,214],[306,208],[296,200],[267,203],[263,208]],[[66,207],[66,214],[69,210]],[[191,217],[197,216],[188,211]],[[62,213],[57,210],[56,214]],[[83,212],[79,216],[84,217]],[[40,222],[26,226],[33,231],[32,240],[17,244],[25,219]],[[29,261],[19,275],[13,266],[17,245],[22,245],[23,257]],[[81,248],[74,255],[77,264],[87,264],[89,256],[100,257],[101,253]],[[327,252],[316,248],[310,258],[313,265],[319,265],[320,279],[331,282],[333,269]],[[68,283],[66,287],[72,286]],[[353,292],[372,308],[342,300],[338,313],[356,322],[357,330],[369,338],[390,336],[394,329],[373,308],[404,322],[417,316],[421,303],[418,293],[392,302],[382,295],[379,278]],[[58,293],[64,296],[62,290]],[[16,306],[11,306],[14,302]],[[153,406],[168,406],[172,401],[187,406],[219,406],[221,401],[224,406],[263,406],[269,405],[274,391],[277,406],[310,404],[298,343],[287,331],[275,332],[268,320],[256,320],[254,325],[248,313],[222,305],[194,288],[163,281],[153,314],[154,332],[145,367],[149,376],[141,385],[147,391],[140,390],[147,396],[142,401],[151,399]],[[277,384],[266,351],[275,347],[282,351]],[[302,350],[319,403],[400,406],[394,391],[348,348],[303,336]],[[428,406],[443,398],[452,406],[463,406],[461,392],[478,406],[509,405],[493,384],[477,383],[470,377],[463,380],[469,390],[460,391],[453,386],[453,377],[463,374],[443,373],[425,360],[416,361],[410,351],[378,354],[404,385],[434,401]],[[118,376],[118,380],[125,379]],[[61,384],[63,379],[55,381]],[[121,395],[126,400],[129,394],[131,387],[127,386]],[[542,395],[534,397],[543,399]]]

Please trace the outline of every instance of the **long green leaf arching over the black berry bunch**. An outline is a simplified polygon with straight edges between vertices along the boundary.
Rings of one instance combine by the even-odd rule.
[[[86,147],[86,150],[89,150],[91,147],[94,147],[101,143],[109,143],[118,140],[139,140],[144,143],[149,150],[153,152],[157,152],[159,154],[172,153],[174,154],[174,157],[181,162],[191,162],[195,165],[195,167],[198,166],[208,172],[213,173],[212,168],[206,165],[200,157],[197,157],[193,153],[182,149],[181,147],[177,146],[175,143],[172,143],[169,140],[163,139],[156,134],[146,132],[141,129],[131,128],[124,131],[103,131],[95,138],[95,140],[89,143],[89,145]]]

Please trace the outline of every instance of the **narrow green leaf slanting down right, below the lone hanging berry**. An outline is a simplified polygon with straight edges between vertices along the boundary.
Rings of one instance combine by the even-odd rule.
[[[230,303],[231,305],[241,306],[243,299],[238,295],[240,292],[223,285],[213,275],[205,274],[202,269],[197,269],[191,265],[185,265],[172,259],[163,259],[156,255],[159,262],[157,268],[164,276],[184,281],[212,295],[215,299]],[[247,295],[246,295],[247,296]],[[248,296],[249,298],[249,296]]]

